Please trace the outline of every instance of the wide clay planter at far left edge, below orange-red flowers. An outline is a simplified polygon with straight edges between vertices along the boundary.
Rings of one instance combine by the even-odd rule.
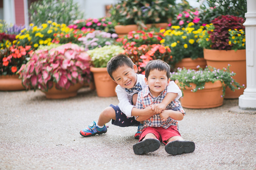
[[[25,90],[19,75],[0,76],[0,91]]]

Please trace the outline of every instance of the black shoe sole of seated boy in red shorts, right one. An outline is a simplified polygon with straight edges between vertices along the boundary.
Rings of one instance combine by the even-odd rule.
[[[171,141],[165,145],[165,151],[171,155],[191,153],[195,151],[195,143],[192,141]]]

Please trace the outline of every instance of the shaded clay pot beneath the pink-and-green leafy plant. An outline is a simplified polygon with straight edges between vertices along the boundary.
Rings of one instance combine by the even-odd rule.
[[[82,86],[83,86],[82,84],[77,83],[75,85],[70,85],[68,90],[66,90],[64,88],[59,90],[59,89],[55,88],[55,83],[53,83],[53,87],[51,89],[48,89],[48,91],[44,92],[44,93],[46,94],[46,98],[49,98],[49,99],[60,99],[60,98],[74,97],[77,95],[77,91]]]

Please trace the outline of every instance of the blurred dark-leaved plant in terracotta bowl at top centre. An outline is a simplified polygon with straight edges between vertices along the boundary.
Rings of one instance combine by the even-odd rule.
[[[121,0],[111,8],[111,18],[117,23],[116,33],[123,36],[130,31],[147,28],[153,24],[156,27],[168,26],[168,19],[173,16],[171,6],[174,0]],[[158,26],[159,23],[165,23],[164,26]],[[125,26],[125,27],[123,27]],[[126,30],[127,29],[127,30]]]

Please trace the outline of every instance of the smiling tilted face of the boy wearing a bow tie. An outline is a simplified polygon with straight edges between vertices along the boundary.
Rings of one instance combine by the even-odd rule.
[[[114,81],[123,88],[132,88],[136,85],[138,68],[136,65],[133,65],[133,68],[130,68],[126,65],[119,67],[112,73]]]

